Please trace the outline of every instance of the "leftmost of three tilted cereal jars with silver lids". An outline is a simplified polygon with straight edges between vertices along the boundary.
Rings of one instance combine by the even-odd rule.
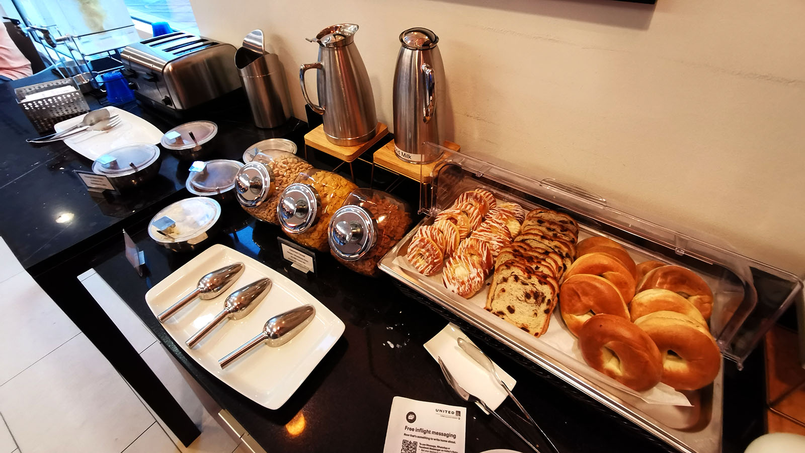
[[[237,172],[237,201],[254,218],[279,225],[277,203],[280,196],[299,173],[311,168],[311,164],[290,152],[260,152]]]

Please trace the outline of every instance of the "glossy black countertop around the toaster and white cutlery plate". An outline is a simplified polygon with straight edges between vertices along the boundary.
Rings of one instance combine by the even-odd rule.
[[[91,171],[92,161],[73,152],[63,142],[31,145],[25,139],[40,134],[17,106],[14,88],[55,80],[43,72],[21,81],[0,84],[0,236],[23,267],[37,274],[74,253],[72,247],[87,247],[109,234],[117,235],[134,214],[162,206],[171,197],[184,197],[184,181],[189,162],[177,160],[162,150],[159,177],[142,189],[111,198],[92,197],[74,170]],[[90,108],[101,104],[86,97]],[[184,120],[142,110],[136,102],[116,105],[167,131]],[[262,139],[285,136],[303,146],[306,124],[292,119],[276,129],[258,129],[248,106],[234,105],[210,112],[218,125],[216,152],[210,158],[241,160],[251,144]],[[178,195],[177,195],[178,193]],[[172,199],[172,198],[171,198]],[[13,213],[13,214],[12,214]]]

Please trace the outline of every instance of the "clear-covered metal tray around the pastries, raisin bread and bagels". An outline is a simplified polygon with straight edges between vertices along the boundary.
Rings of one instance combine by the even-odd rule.
[[[431,190],[422,199],[421,224],[433,221],[464,190],[483,187],[501,199],[519,202],[526,209],[543,206],[571,214],[580,224],[580,237],[602,235],[621,243],[635,262],[658,260],[690,268],[708,282],[714,296],[710,328],[722,355],[741,368],[747,355],[766,330],[802,291],[802,281],[790,272],[752,260],[704,241],[700,234],[672,230],[625,210],[604,197],[562,181],[524,177],[506,168],[452,152],[431,174]],[[720,451],[723,369],[713,384],[684,392],[690,406],[652,404],[634,392],[623,391],[601,380],[601,374],[568,359],[540,338],[522,332],[484,310],[482,302],[466,300],[448,291],[440,277],[427,277],[407,268],[405,254],[418,226],[381,260],[379,268],[452,314],[476,326],[514,351],[539,364],[588,397],[601,402],[638,424],[679,451]],[[480,293],[485,299],[485,291]],[[558,310],[557,310],[558,311]],[[562,324],[554,318],[551,326]],[[549,328],[549,333],[551,332]],[[592,371],[592,374],[590,373]]]

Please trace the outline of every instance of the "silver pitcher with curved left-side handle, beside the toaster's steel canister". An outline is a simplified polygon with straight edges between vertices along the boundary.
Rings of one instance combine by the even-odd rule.
[[[320,31],[316,39],[308,39],[319,44],[319,61],[299,68],[304,100],[313,111],[323,115],[327,139],[340,146],[365,143],[374,137],[378,127],[369,73],[353,43],[357,28],[352,23],[340,23]],[[304,73],[308,69],[319,69],[318,106],[305,89]]]

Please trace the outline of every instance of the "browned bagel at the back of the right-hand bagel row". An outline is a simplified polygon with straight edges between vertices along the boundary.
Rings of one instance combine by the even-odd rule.
[[[704,319],[712,314],[712,291],[702,277],[680,266],[662,266],[646,273],[637,292],[646,289],[670,289],[687,299],[701,312]]]

